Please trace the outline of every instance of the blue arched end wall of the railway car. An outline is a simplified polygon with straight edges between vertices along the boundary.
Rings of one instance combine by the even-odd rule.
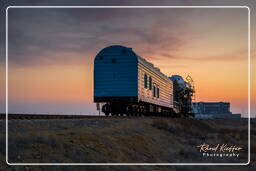
[[[138,59],[123,46],[101,50],[94,60],[94,101],[137,101]]]

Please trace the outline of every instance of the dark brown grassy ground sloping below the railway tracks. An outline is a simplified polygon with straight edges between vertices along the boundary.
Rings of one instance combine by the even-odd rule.
[[[11,119],[9,163],[247,163],[247,120],[189,118]],[[251,121],[249,166],[7,166],[5,120],[0,120],[0,170],[254,170]],[[203,156],[197,146],[227,144],[238,157]],[[226,152],[225,152],[226,154]]]

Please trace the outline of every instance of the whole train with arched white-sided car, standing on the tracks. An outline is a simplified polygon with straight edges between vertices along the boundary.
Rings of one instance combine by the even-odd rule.
[[[191,77],[168,77],[132,48],[108,46],[94,59],[94,102],[106,116],[193,116],[194,93]]]

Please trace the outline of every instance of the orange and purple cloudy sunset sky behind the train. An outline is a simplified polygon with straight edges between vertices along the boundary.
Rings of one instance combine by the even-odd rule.
[[[97,113],[94,57],[124,45],[168,76],[190,75],[196,101],[230,102],[247,116],[247,8],[11,8],[8,15],[9,112]]]

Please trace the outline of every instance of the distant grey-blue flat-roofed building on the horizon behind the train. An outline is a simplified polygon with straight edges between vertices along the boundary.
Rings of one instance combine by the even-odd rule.
[[[240,114],[230,112],[228,102],[195,102],[192,108],[197,118],[241,118]]]

